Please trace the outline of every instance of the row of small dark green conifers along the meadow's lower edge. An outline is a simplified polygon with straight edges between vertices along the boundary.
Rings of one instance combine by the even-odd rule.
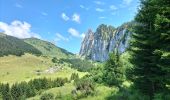
[[[33,79],[29,82],[15,83],[12,86],[9,84],[0,84],[0,96],[3,100],[24,100],[37,95],[40,90],[60,87],[68,82],[67,78],[57,79]]]

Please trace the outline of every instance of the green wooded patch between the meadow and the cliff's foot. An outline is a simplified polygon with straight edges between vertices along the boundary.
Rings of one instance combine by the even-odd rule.
[[[75,59],[61,59],[61,61],[67,62],[71,64],[71,68],[77,69],[78,71],[89,71],[94,67],[93,62],[88,60],[82,60],[79,58]]]

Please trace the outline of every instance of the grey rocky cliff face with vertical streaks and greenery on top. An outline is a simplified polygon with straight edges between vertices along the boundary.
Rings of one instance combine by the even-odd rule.
[[[119,53],[125,52],[130,35],[131,32],[125,26],[116,29],[102,24],[96,32],[88,30],[82,41],[79,55],[94,61],[106,61],[110,52],[115,50]]]

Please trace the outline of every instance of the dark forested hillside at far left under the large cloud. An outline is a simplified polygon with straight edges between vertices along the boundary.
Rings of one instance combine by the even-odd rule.
[[[17,55],[24,53],[38,54],[41,52],[23,40],[0,33],[0,56]]]

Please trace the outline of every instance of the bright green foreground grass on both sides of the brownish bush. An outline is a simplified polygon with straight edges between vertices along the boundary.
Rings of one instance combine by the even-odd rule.
[[[73,83],[68,83],[65,84],[62,87],[56,87],[56,88],[52,88],[49,89],[47,91],[43,91],[42,93],[40,93],[39,95],[29,98],[27,100],[40,100],[40,97],[44,94],[44,93],[53,93],[54,96],[60,96],[59,99],[57,100],[76,100],[73,98],[71,91],[74,90],[74,85]],[[86,98],[81,98],[78,100],[105,100],[105,98],[111,94],[112,91],[117,91],[116,88],[109,88],[107,86],[104,85],[97,85],[96,86],[96,92],[94,95],[92,96],[88,96]]]

